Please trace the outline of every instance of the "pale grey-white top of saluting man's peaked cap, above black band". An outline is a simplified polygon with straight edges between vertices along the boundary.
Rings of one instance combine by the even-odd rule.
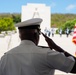
[[[40,25],[43,20],[41,18],[32,18],[20,23],[15,24],[16,27],[27,27],[27,26],[35,26]]]

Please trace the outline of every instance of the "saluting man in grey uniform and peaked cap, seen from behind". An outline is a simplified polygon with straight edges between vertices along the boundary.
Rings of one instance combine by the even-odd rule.
[[[54,75],[55,69],[76,73],[76,58],[43,33],[48,48],[38,47],[41,22],[33,18],[16,24],[21,44],[2,56],[0,75]]]

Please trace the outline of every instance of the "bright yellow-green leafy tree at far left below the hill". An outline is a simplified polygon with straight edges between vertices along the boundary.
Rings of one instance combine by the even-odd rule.
[[[1,18],[0,19],[0,32],[1,31],[8,31],[8,30],[15,30],[15,26],[13,23],[13,19],[12,18]]]

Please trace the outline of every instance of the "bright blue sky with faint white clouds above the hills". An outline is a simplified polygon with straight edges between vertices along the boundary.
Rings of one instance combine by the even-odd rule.
[[[76,14],[76,0],[0,0],[0,13],[21,13],[22,5],[27,3],[50,6],[51,13]]]

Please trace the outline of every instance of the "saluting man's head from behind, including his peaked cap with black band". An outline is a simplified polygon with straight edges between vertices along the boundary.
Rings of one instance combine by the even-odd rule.
[[[41,31],[41,22],[41,18],[32,18],[16,24],[16,27],[19,29],[19,36],[21,40],[31,40],[37,45]]]

